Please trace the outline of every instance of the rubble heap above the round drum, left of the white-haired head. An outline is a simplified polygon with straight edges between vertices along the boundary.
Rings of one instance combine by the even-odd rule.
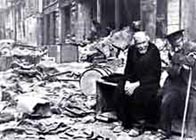
[[[80,60],[102,62],[108,58],[120,59],[119,53],[126,49],[131,38],[132,32],[130,32],[129,27],[125,27],[120,31],[113,31],[107,37],[100,38],[93,43],[80,47]]]

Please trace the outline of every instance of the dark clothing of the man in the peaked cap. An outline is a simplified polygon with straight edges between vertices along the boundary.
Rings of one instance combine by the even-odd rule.
[[[162,88],[162,103],[161,103],[161,128],[171,134],[171,126],[173,120],[181,120],[183,117],[188,78],[190,70],[183,67],[187,65],[192,68],[192,82],[190,89],[189,115],[188,119],[195,118],[196,112],[194,103],[196,96],[196,65],[195,59],[188,56],[189,53],[195,52],[195,46],[190,42],[184,44],[180,52],[175,53],[170,57],[171,66],[168,68],[168,74],[164,86]],[[194,115],[194,116],[193,116]],[[195,122],[196,123],[196,122]]]

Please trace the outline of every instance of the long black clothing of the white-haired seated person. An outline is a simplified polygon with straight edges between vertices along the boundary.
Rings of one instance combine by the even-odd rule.
[[[117,108],[119,118],[125,127],[130,127],[137,120],[155,118],[158,107],[154,104],[161,75],[161,59],[157,47],[149,42],[147,53],[140,54],[135,46],[128,50],[124,81],[119,83]],[[125,81],[140,82],[131,96],[124,93]]]

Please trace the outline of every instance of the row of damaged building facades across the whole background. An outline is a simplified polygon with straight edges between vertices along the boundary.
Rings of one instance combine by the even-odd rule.
[[[0,16],[4,19],[0,21],[1,39],[47,46],[57,62],[78,60],[77,48],[66,44],[70,39],[77,43],[88,40],[93,21],[111,31],[141,20],[142,29],[152,40],[177,29],[185,29],[186,35],[195,40],[194,0],[2,0],[1,3]]]

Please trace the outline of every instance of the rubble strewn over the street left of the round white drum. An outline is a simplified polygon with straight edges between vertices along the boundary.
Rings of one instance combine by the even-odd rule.
[[[49,61],[35,63],[25,56],[17,61],[0,72],[1,139],[104,137],[94,130],[95,98],[79,88],[79,77],[88,63],[59,66]]]

